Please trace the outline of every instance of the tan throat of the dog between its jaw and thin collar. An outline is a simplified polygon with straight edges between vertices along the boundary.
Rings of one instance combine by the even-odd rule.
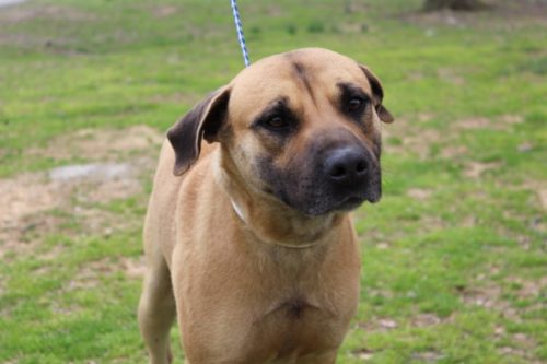
[[[306,216],[274,196],[253,191],[220,149],[213,156],[214,178],[226,192],[234,214],[258,239],[287,248],[312,248],[321,245],[339,225],[342,214]]]

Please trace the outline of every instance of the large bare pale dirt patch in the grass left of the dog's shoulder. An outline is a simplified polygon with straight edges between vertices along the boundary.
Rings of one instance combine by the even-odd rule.
[[[45,150],[35,150],[33,153],[59,158],[68,158],[70,151],[77,150],[97,160],[112,160],[128,151],[130,158],[65,165],[0,179],[0,258],[32,251],[43,237],[57,232],[109,235],[113,228],[130,227],[127,219],[97,204],[142,195],[141,176],[152,175],[162,140],[148,127],[82,130],[54,140]],[[146,203],[146,197],[142,200]],[[74,224],[77,227],[71,227]]]

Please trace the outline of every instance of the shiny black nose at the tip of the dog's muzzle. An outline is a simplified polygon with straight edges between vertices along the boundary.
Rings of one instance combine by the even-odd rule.
[[[365,152],[356,146],[345,146],[333,151],[325,160],[325,174],[331,181],[340,185],[363,183],[366,178]]]

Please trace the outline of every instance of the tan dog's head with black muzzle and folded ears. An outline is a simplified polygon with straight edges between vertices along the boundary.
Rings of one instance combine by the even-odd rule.
[[[201,139],[218,141],[256,192],[306,214],[351,210],[381,197],[379,79],[326,49],[300,49],[243,70],[167,133],[181,175]]]

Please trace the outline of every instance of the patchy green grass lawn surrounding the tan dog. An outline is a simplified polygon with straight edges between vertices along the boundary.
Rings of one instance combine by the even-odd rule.
[[[396,116],[384,198],[356,213],[361,304],[338,362],[543,363],[545,23],[481,12],[451,25],[420,4],[240,4],[252,59],[340,51],[375,71]],[[36,0],[0,10],[0,44],[2,181],[96,161],[46,152],[82,129],[163,132],[242,68],[228,3],[213,1]],[[141,192],[88,201],[72,186],[0,225],[0,363],[143,362],[131,269],[156,148],[108,155],[152,161]]]

